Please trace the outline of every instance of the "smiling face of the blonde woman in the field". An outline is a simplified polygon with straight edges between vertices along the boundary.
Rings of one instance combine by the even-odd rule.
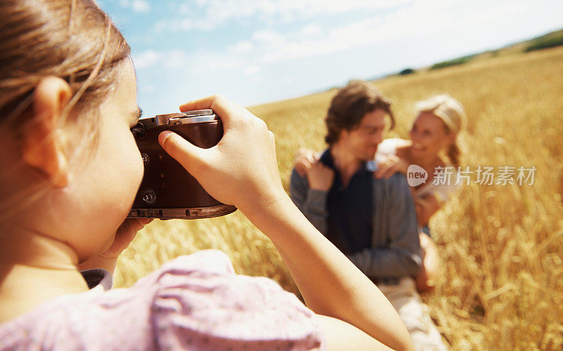
[[[410,148],[413,158],[434,158],[451,143],[444,122],[430,112],[421,112],[410,129]]]

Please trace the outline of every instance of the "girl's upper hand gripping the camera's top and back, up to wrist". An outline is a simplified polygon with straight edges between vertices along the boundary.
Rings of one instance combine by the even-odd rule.
[[[266,123],[218,95],[180,106],[182,112],[206,108],[221,117],[224,134],[219,143],[198,148],[182,136],[165,131],[158,136],[164,150],[211,196],[243,212],[286,196],[277,168],[274,134]]]

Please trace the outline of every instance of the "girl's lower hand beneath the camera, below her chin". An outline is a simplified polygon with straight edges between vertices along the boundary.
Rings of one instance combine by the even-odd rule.
[[[103,253],[78,264],[78,269],[84,271],[85,269],[101,268],[113,273],[118,256],[133,241],[137,231],[143,229],[146,224],[152,221],[153,218],[126,218],[115,232],[115,238],[110,247],[103,251]]]

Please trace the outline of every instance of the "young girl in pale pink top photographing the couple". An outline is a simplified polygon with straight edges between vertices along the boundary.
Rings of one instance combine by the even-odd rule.
[[[2,1],[0,63],[1,350],[412,349],[377,287],[291,203],[272,132],[222,96],[180,106],[220,115],[217,146],[160,144],[272,240],[308,308],[215,250],[106,290],[99,268],[147,222],[125,220],[143,173],[129,46],[92,1]]]

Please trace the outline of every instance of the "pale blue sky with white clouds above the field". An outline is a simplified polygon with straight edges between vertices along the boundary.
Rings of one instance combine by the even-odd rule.
[[[560,0],[99,0],[132,47],[144,115],[250,106],[563,27]]]

